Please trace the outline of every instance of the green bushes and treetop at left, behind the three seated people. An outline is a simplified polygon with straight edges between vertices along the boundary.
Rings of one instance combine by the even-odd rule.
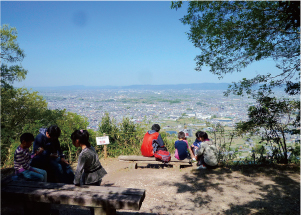
[[[71,133],[75,129],[86,129],[87,119],[74,113],[66,113],[65,110],[49,110],[46,101],[38,95],[38,92],[12,87],[14,81],[25,79],[27,74],[27,71],[21,65],[13,65],[14,63],[20,63],[25,54],[17,43],[16,28],[3,25],[0,30],[2,63],[1,165],[13,165],[13,154],[20,144],[18,139],[22,133],[30,132],[37,135],[41,127],[48,127],[53,124],[61,128],[60,141],[62,149],[69,155],[69,160],[72,161],[76,150],[70,145]]]

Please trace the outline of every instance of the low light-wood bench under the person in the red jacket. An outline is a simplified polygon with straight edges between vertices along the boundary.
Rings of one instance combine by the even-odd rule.
[[[137,156],[137,155],[130,155],[125,156],[121,155],[118,157],[119,161],[126,161],[130,162],[129,168],[137,169],[138,164],[140,163],[147,163],[147,164],[163,164],[162,161],[157,161],[155,157],[144,157],[144,156]],[[172,165],[173,168],[180,169],[181,166],[192,166],[192,163],[189,159],[178,160],[174,157],[171,158],[170,162],[167,165]]]

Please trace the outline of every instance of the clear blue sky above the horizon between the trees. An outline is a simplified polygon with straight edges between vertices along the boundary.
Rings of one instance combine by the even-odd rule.
[[[204,67],[170,1],[1,1],[1,25],[18,31],[26,79],[15,87],[232,83],[275,68],[272,60],[218,79]],[[271,71],[270,71],[271,72]]]

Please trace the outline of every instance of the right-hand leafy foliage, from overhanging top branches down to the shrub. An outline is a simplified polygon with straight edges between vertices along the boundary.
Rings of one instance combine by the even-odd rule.
[[[280,71],[272,76],[259,74],[229,86],[230,93],[256,98],[248,110],[249,120],[236,126],[237,135],[262,135],[273,148],[273,159],[287,163],[286,132],[298,132],[300,102],[271,97],[275,87],[289,95],[300,92],[300,2],[294,1],[189,1],[181,21],[190,25],[187,34],[195,47],[196,70],[204,66],[222,78],[241,72],[255,61],[272,58]],[[172,2],[179,9],[182,1]],[[297,112],[296,117],[292,113]],[[291,128],[291,127],[293,128]],[[262,131],[258,133],[258,131]],[[255,155],[254,155],[255,159]]]

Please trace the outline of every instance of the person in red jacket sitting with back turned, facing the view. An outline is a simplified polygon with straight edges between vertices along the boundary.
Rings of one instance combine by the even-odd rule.
[[[164,142],[159,134],[160,125],[153,124],[152,130],[146,132],[141,145],[141,153],[145,157],[152,157],[158,148],[165,148]]]

